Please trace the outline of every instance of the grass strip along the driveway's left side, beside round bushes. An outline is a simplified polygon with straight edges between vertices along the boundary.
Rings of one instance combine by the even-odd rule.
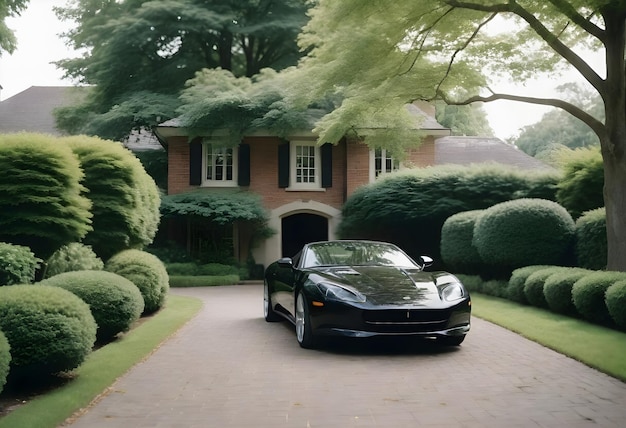
[[[117,378],[149,356],[198,313],[199,299],[169,295],[158,313],[91,353],[66,385],[30,400],[0,419],[0,428],[54,428],[106,392]]]

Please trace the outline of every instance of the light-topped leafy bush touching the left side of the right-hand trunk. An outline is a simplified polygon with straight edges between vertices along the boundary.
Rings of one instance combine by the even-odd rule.
[[[604,206],[604,163],[599,146],[560,152],[563,177],[556,200],[572,217]]]

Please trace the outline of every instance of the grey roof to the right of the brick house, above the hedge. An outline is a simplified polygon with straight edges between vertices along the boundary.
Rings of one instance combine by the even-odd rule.
[[[435,165],[488,162],[526,170],[553,170],[551,166],[499,138],[448,136],[435,140]]]

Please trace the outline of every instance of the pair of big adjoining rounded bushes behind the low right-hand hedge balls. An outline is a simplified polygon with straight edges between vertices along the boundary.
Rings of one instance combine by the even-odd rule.
[[[572,264],[575,224],[556,202],[526,198],[455,214],[441,237],[449,270],[508,278],[522,266]]]

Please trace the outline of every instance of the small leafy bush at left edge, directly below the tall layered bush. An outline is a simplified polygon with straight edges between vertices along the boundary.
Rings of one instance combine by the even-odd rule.
[[[0,285],[32,283],[39,263],[30,248],[0,242]]]

